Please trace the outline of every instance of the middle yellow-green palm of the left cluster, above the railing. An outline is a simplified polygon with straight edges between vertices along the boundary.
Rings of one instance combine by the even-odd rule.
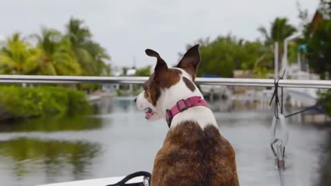
[[[81,66],[74,57],[71,43],[54,29],[42,28],[41,35],[34,34],[37,48],[41,50],[37,74],[79,75]]]

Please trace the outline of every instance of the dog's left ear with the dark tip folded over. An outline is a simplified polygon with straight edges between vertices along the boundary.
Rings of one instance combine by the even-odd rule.
[[[154,50],[146,49],[145,52],[148,56],[154,56],[157,58],[157,65],[154,68],[154,81],[156,83],[160,83],[161,81],[166,81],[166,80],[162,80],[162,77],[165,75],[165,73],[168,72],[167,63],[165,63],[165,61],[161,58],[161,56]]]

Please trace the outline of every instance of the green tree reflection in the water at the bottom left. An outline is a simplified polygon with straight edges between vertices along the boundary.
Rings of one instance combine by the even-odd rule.
[[[100,152],[99,143],[14,138],[0,141],[0,156],[3,159],[0,166],[10,169],[11,176],[16,177],[23,185],[43,183],[40,178],[25,179],[33,174],[45,174],[46,183],[77,180],[90,174],[88,169],[92,160]]]

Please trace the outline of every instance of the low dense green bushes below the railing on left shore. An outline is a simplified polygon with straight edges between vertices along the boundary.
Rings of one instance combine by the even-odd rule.
[[[67,87],[0,87],[0,121],[92,112],[86,94]]]

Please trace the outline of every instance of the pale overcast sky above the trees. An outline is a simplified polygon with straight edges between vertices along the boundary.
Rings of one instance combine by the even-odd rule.
[[[314,14],[319,0],[299,0]],[[0,35],[39,32],[41,25],[64,30],[70,17],[86,21],[112,56],[113,65],[154,65],[144,50],[157,50],[169,64],[185,45],[231,32],[254,40],[257,28],[275,17],[298,25],[297,0],[0,0]]]

